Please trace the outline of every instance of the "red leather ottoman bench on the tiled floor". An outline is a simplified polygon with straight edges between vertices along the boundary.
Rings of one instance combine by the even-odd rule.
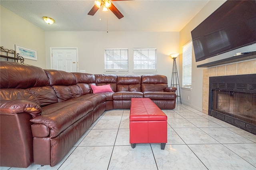
[[[132,98],[130,107],[130,144],[167,143],[167,116],[149,98]]]

